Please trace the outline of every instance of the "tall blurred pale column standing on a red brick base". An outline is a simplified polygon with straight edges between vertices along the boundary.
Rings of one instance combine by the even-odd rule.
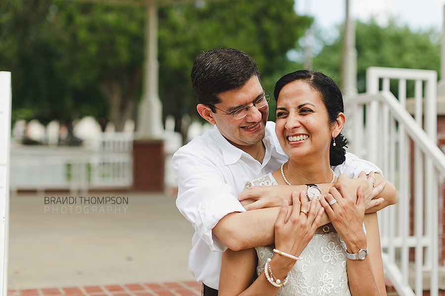
[[[147,3],[142,102],[138,108],[137,138],[159,139],[162,135],[162,105],[158,95],[158,7]]]

